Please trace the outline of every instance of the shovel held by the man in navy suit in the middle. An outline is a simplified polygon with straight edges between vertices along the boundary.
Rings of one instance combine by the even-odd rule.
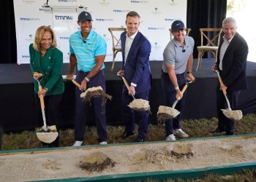
[[[120,74],[117,73],[117,76],[120,76],[123,81],[125,86],[127,87],[127,90],[129,90],[129,84],[127,82],[127,80],[124,78],[124,76],[121,76]],[[144,99],[136,99],[135,95],[132,95],[132,103],[129,103],[129,108],[132,108],[135,111],[149,111],[150,110],[150,106],[148,103],[148,100],[144,100]]]

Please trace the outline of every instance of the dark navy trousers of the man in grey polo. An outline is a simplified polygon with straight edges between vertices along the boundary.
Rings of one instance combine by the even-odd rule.
[[[176,74],[177,81],[178,81],[178,87],[180,87],[180,90],[184,87],[186,84],[185,76],[184,74]],[[162,71],[161,74],[161,84],[162,89],[165,94],[165,106],[172,107],[173,103],[176,101],[176,90],[173,86],[173,83],[170,81],[169,75],[167,73],[164,73]],[[176,110],[180,111],[180,114],[176,116],[176,118],[173,119],[167,119],[165,121],[165,132],[166,136],[173,134],[173,130],[181,128],[180,126],[180,120],[182,116],[182,110],[185,105],[187,91],[184,92],[183,97],[181,100],[178,100],[178,103],[176,104]]]

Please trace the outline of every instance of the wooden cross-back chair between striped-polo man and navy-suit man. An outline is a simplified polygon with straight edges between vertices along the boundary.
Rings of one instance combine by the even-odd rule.
[[[121,52],[121,33],[127,31],[127,28],[108,28],[112,36],[112,50],[113,50],[113,63],[111,67],[111,71],[115,66],[115,58],[118,52]]]

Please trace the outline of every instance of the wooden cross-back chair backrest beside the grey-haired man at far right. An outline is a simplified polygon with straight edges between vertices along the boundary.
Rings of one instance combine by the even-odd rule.
[[[199,28],[201,35],[201,46],[219,47],[219,39],[222,28]]]

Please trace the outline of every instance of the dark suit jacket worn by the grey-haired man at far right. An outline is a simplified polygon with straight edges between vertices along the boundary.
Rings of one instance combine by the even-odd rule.
[[[219,50],[222,46],[223,39],[219,44]],[[232,41],[227,47],[222,60],[222,76],[223,83],[227,86],[227,92],[244,90],[247,86],[246,80],[246,60],[248,55],[248,46],[244,38],[236,32]],[[217,66],[219,68],[219,54],[217,58]]]

